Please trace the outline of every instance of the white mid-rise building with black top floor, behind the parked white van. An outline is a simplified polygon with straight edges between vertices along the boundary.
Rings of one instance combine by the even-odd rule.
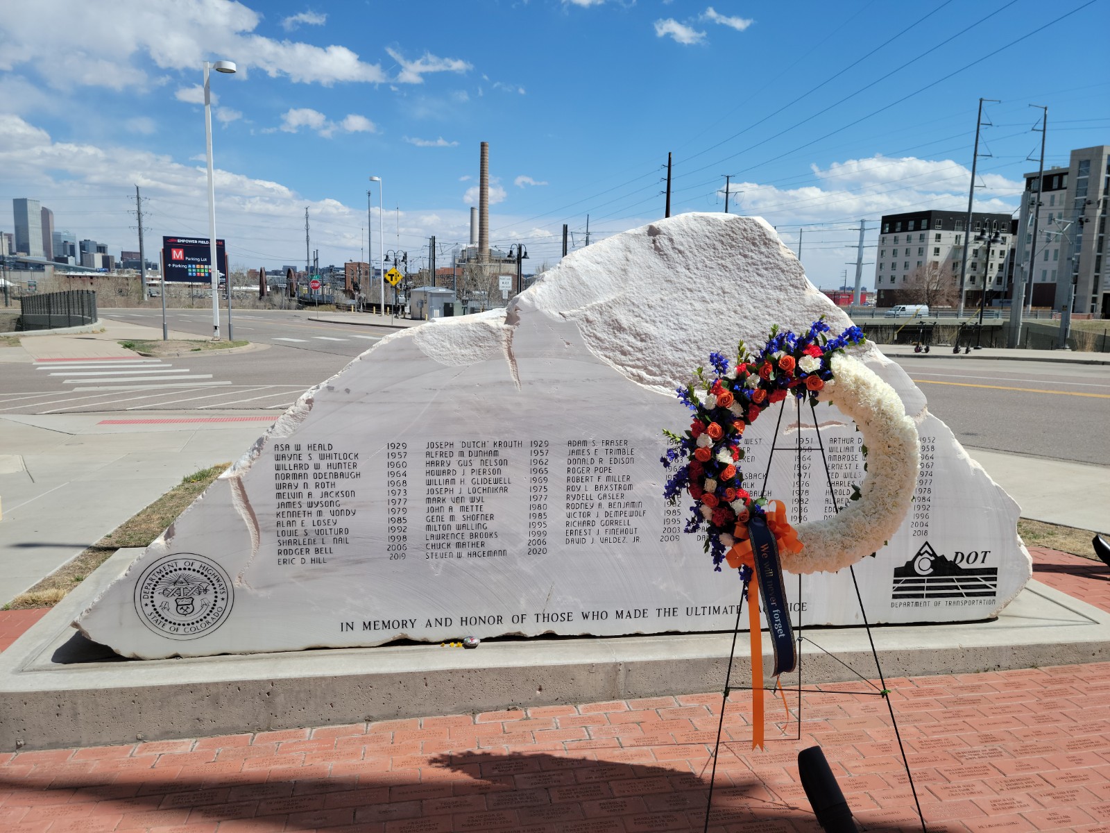
[[[967,213],[961,211],[914,211],[886,214],[879,229],[878,257],[875,259],[876,304],[890,307],[905,303],[901,298],[919,275],[930,272],[944,283],[937,294],[959,303],[960,265],[963,247],[968,243]],[[977,242],[982,231],[998,232],[998,242],[990,247]],[[965,304],[979,305],[986,287],[987,301],[1002,298],[1012,273],[1016,221],[1009,214],[971,214]]]

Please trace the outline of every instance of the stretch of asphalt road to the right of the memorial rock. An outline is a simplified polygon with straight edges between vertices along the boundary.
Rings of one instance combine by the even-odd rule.
[[[901,359],[967,446],[1110,465],[1110,365]]]

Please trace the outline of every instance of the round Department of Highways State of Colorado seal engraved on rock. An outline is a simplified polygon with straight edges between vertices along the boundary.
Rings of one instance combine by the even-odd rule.
[[[191,552],[167,555],[143,570],[134,595],[143,624],[171,640],[194,640],[214,631],[234,601],[223,568]]]

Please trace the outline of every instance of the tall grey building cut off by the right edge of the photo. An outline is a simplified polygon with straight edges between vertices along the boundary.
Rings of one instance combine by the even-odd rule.
[[[1071,301],[1072,312],[1110,318],[1110,287],[1102,280],[1110,145],[1079,148],[1071,151],[1067,168],[1046,170],[1039,204],[1037,174],[1025,174],[1018,227],[1019,268],[1032,281],[1032,305],[1060,310]]]

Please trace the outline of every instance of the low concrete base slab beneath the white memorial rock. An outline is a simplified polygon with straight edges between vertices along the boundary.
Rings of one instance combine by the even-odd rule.
[[[731,643],[730,633],[663,634],[128,661],[69,623],[137,554],[119,551],[0,654],[0,751],[719,691]],[[997,620],[872,635],[887,678],[1110,659],[1110,613],[1036,581]],[[876,676],[865,630],[805,636],[806,683],[858,679],[841,663]],[[750,678],[747,645],[741,635],[737,686]]]

